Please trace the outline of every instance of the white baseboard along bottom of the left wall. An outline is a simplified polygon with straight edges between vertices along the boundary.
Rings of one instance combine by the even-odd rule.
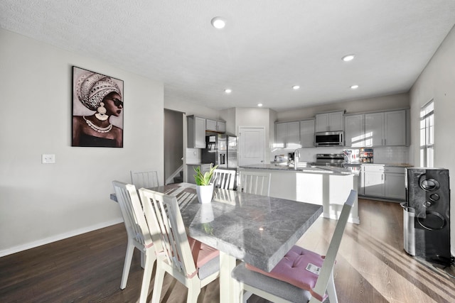
[[[19,246],[14,246],[14,247],[11,247],[11,248],[0,250],[0,257],[4,257],[5,255],[11,255],[13,253],[18,253],[20,251],[27,250],[27,249],[30,249],[30,248],[36,248],[38,246],[42,246],[42,245],[45,245],[45,244],[53,243],[55,241],[60,241],[60,240],[63,240],[65,238],[78,236],[78,235],[80,235],[82,233],[88,233],[90,231],[96,231],[97,229],[105,228],[107,226],[112,226],[114,224],[119,224],[119,223],[122,223],[122,222],[123,222],[122,218],[114,219],[112,221],[102,222],[100,224],[95,224],[95,225],[92,225],[92,226],[79,228],[79,229],[76,229],[74,231],[68,231],[68,233],[60,233],[60,234],[55,235],[55,236],[51,236],[51,237],[48,237],[48,238],[40,239],[38,241],[33,241],[33,242],[25,243],[25,244],[22,244],[22,245],[19,245]]]

